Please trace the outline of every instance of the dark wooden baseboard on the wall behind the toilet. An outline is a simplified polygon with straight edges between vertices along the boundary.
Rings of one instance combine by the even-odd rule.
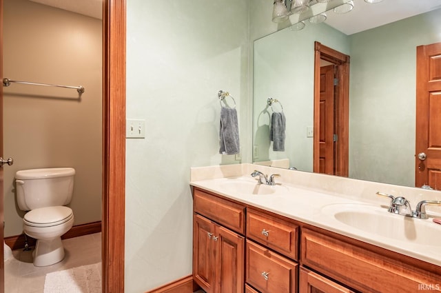
[[[66,234],[61,236],[61,239],[69,239],[73,237],[88,235],[88,234],[94,234],[101,232],[101,221],[93,222],[93,223],[87,223],[87,224],[81,224],[81,225],[75,225],[70,229]],[[32,237],[28,236],[28,245],[34,246],[36,240]],[[17,236],[9,236],[5,237],[5,243],[12,248],[12,250],[20,250],[25,247],[25,235],[17,235]]]

